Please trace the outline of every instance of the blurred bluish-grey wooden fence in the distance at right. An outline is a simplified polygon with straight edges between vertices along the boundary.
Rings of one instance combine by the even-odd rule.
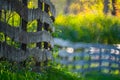
[[[54,39],[59,47],[56,62],[74,72],[120,72],[120,49],[117,46],[91,43],[72,43]]]

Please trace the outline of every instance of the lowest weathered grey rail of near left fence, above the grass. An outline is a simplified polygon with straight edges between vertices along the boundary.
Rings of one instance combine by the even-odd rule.
[[[4,50],[4,51],[2,51]],[[6,43],[0,43],[0,58],[4,57],[10,61],[21,62],[29,58],[34,57],[36,61],[42,62],[52,59],[52,54],[49,50],[41,50],[39,48],[27,49],[23,51],[7,45]]]

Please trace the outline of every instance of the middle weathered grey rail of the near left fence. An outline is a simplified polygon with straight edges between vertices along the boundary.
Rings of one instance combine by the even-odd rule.
[[[0,22],[0,32],[3,32],[16,42],[21,43],[35,43],[35,42],[49,42],[53,47],[53,38],[47,31],[25,32],[21,27],[11,27],[3,22]]]

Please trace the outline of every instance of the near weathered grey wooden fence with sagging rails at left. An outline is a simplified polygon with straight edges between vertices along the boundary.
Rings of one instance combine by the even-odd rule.
[[[54,28],[55,7],[50,0],[34,1],[37,1],[36,8],[28,8],[30,0],[0,0],[0,36],[4,38],[0,40],[0,58],[18,63],[30,56],[33,56],[38,63],[47,62],[52,58],[51,33]],[[18,22],[14,20],[13,14],[19,16],[16,17],[19,19]],[[9,23],[11,17],[13,17],[13,24]],[[34,32],[28,32],[27,26],[35,20],[37,29]],[[19,25],[15,26],[15,23]],[[10,43],[8,39],[11,40]],[[29,48],[29,44],[35,44],[35,46]]]

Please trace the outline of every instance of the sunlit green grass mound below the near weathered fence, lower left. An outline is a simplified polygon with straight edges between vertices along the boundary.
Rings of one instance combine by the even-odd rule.
[[[0,63],[0,80],[78,80],[78,77],[62,68],[50,67],[36,73],[3,61]]]

